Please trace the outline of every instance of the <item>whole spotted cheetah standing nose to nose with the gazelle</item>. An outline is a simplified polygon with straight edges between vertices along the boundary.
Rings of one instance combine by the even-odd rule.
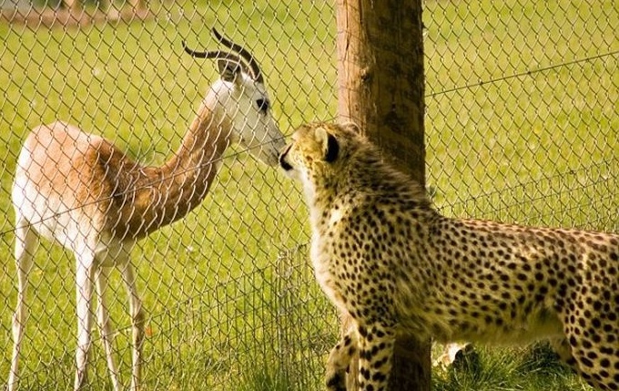
[[[548,339],[590,385],[619,390],[619,235],[453,219],[353,124],[296,129],[279,156],[302,183],[310,258],[353,326],[326,386],[386,389],[397,335],[489,345]]]

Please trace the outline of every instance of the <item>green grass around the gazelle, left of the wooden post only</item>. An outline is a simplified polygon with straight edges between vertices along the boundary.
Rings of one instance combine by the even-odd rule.
[[[6,216],[13,214],[8,194],[15,151],[27,129],[39,123],[67,119],[114,139],[148,164],[161,163],[177,149],[199,100],[216,77],[213,62],[188,57],[180,42],[216,47],[211,26],[246,43],[259,58],[284,132],[314,116],[332,117],[326,114],[330,103],[320,99],[320,85],[307,77],[319,71],[322,76],[324,67],[319,64],[330,56],[320,46],[325,41],[334,46],[325,38],[333,32],[325,25],[318,35],[313,33],[318,39],[301,39],[307,32],[281,15],[296,9],[312,26],[324,25],[320,5],[309,11],[301,5],[271,9],[267,3],[251,9],[212,2],[162,7],[169,9],[144,23],[67,30],[0,26],[6,43],[0,67],[6,86],[0,118],[0,137],[6,146],[0,149],[5,162],[0,169],[0,208]],[[168,14],[175,20],[167,19]],[[252,25],[262,18],[272,25],[267,36]],[[280,47],[287,32],[290,46]],[[298,56],[292,47],[313,53],[304,60],[309,71],[296,72]],[[309,118],[306,113],[311,113]],[[320,378],[320,357],[337,333],[337,323],[313,283],[307,252],[294,251],[308,241],[299,191],[275,170],[238,152],[229,151],[217,183],[198,211],[140,242],[134,252],[149,314],[148,389],[230,389],[240,379],[249,381],[246,369],[256,363],[272,371],[256,372],[256,383],[280,382],[282,374],[295,374],[296,384],[315,388],[312,382]],[[12,218],[0,224],[5,232],[0,242],[0,253],[5,254],[0,273],[4,303],[0,328],[5,332],[0,333],[0,348],[8,353],[15,305]],[[57,246],[44,243],[44,247],[37,252],[32,276],[32,315],[22,361],[25,389],[69,388],[73,379],[73,260]],[[112,317],[120,328],[117,357],[127,384],[130,331],[125,290],[117,273],[110,289],[114,291],[110,296],[117,297]],[[301,314],[312,319],[299,320]],[[94,348],[92,389],[109,388],[102,349],[98,344]],[[0,362],[3,379],[8,365],[8,360]],[[285,365],[302,365],[303,370],[292,372]]]

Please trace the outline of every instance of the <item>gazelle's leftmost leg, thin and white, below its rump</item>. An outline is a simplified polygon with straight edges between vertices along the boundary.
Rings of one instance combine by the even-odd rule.
[[[38,238],[32,231],[27,221],[19,218],[17,213],[17,223],[15,227],[15,264],[17,269],[17,304],[13,315],[13,355],[11,358],[11,372],[8,376],[8,390],[13,391],[17,386],[19,352],[21,350],[22,339],[24,337],[24,324],[28,316],[28,309],[25,305],[25,291],[28,284],[28,274],[32,269],[34,251]]]

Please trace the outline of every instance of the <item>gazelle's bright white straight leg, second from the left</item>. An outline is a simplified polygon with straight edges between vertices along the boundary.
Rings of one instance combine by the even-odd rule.
[[[92,340],[92,299],[95,254],[85,251],[76,253],[76,307],[77,307],[77,350],[76,383],[79,390],[86,384],[86,364]]]

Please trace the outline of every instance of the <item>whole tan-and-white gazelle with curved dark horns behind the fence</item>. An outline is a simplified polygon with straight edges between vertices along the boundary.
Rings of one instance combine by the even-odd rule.
[[[76,256],[75,389],[86,384],[93,285],[109,375],[114,389],[121,389],[104,297],[109,269],[116,266],[129,296],[131,389],[137,390],[145,316],[129,260],[131,249],[137,240],[198,206],[231,143],[238,142],[268,165],[277,164],[284,140],[271,115],[260,68],[243,47],[215,29],[213,34],[232,52],[196,52],[183,43],[193,57],[217,59],[220,78],[208,89],[177,153],[163,166],[142,166],[107,139],[64,122],[39,126],[25,139],[12,192],[18,296],[9,390],[15,389],[19,377],[19,351],[27,317],[25,293],[38,236],[58,242]]]

